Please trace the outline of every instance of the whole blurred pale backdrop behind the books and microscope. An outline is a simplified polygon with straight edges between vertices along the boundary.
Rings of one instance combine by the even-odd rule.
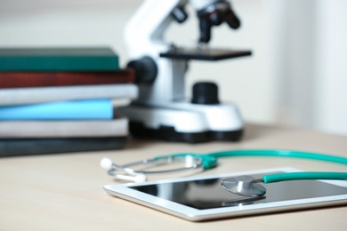
[[[125,23],[141,0],[0,0],[0,47],[109,46],[127,63]],[[192,84],[214,81],[246,122],[303,126],[347,135],[347,1],[233,0],[242,26],[213,29],[215,48],[253,56],[191,61]],[[173,23],[165,40],[194,46],[196,12]],[[141,39],[141,38],[139,38]]]

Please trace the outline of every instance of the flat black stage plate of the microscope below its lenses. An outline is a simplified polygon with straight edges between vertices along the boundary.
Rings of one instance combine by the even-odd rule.
[[[251,55],[246,50],[222,50],[222,49],[188,49],[173,48],[169,52],[160,53],[160,57],[173,60],[226,60]]]

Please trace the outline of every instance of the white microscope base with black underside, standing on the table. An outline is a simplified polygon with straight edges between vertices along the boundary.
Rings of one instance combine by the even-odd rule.
[[[165,107],[131,105],[118,108],[129,118],[130,133],[137,138],[199,143],[212,140],[238,141],[243,123],[230,105],[172,103]]]

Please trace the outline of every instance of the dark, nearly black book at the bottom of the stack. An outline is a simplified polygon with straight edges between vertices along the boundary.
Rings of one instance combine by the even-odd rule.
[[[126,137],[0,139],[0,157],[114,150],[124,148],[125,141]]]

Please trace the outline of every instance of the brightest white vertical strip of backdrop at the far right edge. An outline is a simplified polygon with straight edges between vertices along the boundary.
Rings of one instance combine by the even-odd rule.
[[[347,1],[318,1],[314,126],[347,134]]]

